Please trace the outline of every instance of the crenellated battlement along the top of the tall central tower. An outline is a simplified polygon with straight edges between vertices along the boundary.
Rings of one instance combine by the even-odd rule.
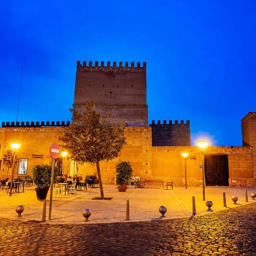
[[[88,65],[86,61],[83,61],[83,65],[81,65],[81,61],[77,61],[76,70],[77,71],[95,71],[95,72],[100,72],[100,71],[146,72],[146,62],[143,62],[142,67],[140,65],[140,62],[137,62],[137,67],[134,66],[134,62],[131,62],[130,66],[128,62],[125,62],[125,65],[123,67],[122,61],[119,61],[119,66],[116,66],[116,61],[113,62],[112,66],[110,61],[107,61],[107,66],[105,66],[104,61],[101,61],[100,65],[99,65],[99,61],[95,61],[94,66],[93,66],[93,61],[89,61]]]

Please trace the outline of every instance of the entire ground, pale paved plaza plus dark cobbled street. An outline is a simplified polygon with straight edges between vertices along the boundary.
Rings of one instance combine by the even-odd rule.
[[[121,193],[105,185],[110,201],[91,199],[99,196],[98,188],[54,195],[52,220],[46,222],[41,222],[42,202],[34,188],[12,197],[0,191],[0,255],[256,255],[256,204],[250,198],[255,189],[247,190],[248,203],[244,188],[206,187],[206,199],[213,202],[213,212],[207,212],[200,187],[130,186]],[[192,215],[192,195],[197,215]],[[131,221],[125,221],[127,199]],[[22,217],[15,212],[18,204],[24,205]],[[160,205],[167,208],[166,218],[160,218]],[[84,208],[92,211],[89,222],[84,222]]]

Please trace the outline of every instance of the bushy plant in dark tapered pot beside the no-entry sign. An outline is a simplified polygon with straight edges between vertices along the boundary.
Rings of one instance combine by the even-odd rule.
[[[45,200],[49,187],[51,186],[52,166],[48,164],[37,164],[32,169],[32,178],[36,185],[35,192],[38,200]],[[56,172],[54,172],[54,182]]]

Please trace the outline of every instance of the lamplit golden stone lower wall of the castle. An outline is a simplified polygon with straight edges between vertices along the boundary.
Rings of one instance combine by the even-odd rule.
[[[19,142],[19,158],[28,158],[28,175],[31,174],[35,164],[51,164],[49,146],[58,141],[63,134],[61,127],[39,128],[0,128],[0,157],[10,150],[10,143]],[[189,153],[187,160],[187,180],[189,186],[202,184],[202,172],[199,166],[202,163],[201,151],[195,146],[152,146],[151,127],[127,127],[125,128],[127,145],[121,151],[119,157],[114,160],[100,163],[102,180],[104,183],[114,183],[116,164],[119,161],[130,161],[134,169],[134,176],[140,176],[141,180],[161,179],[174,181],[174,186],[183,186],[184,159],[182,152]],[[230,186],[253,186],[255,176],[253,172],[252,149],[243,147],[209,147],[205,154],[227,154],[229,165]],[[36,158],[33,155],[42,155]],[[70,160],[65,161],[65,173],[70,171]],[[84,163],[79,165],[79,175],[95,174],[96,166]],[[7,168],[2,164],[0,178],[6,178]],[[9,173],[10,177],[10,173]],[[17,177],[17,167],[15,167]]]

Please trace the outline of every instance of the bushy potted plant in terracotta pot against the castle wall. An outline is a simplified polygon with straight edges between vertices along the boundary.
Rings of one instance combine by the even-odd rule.
[[[116,165],[116,183],[119,192],[125,192],[127,183],[132,177],[132,168],[130,162],[122,161]]]

